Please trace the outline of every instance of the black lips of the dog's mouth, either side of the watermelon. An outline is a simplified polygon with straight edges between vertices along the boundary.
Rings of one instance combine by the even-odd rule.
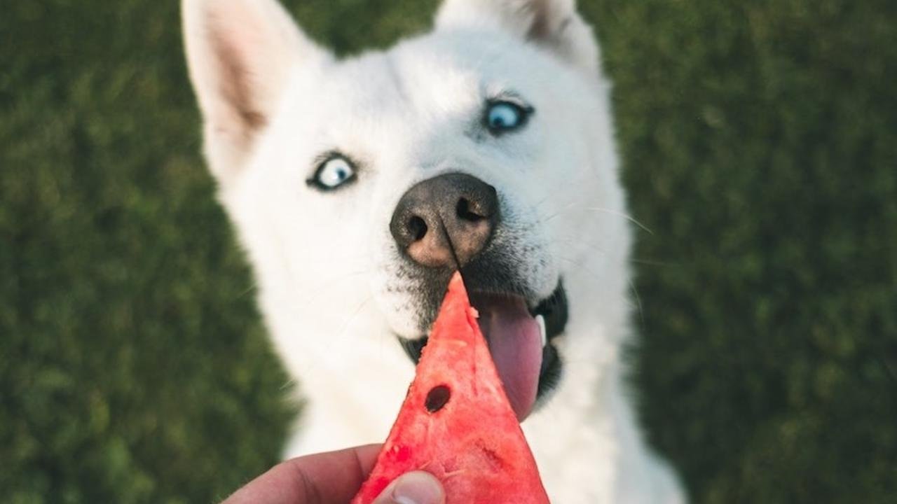
[[[563,288],[563,282],[558,281],[558,285],[551,295],[539,301],[536,308],[531,308],[529,313],[533,317],[540,315],[544,317],[545,337],[548,340],[542,349],[542,369],[539,370],[539,384],[534,407],[534,410],[537,410],[547,401],[549,393],[557,387],[562,377],[563,362],[557,349],[554,348],[553,340],[563,334],[570,313],[567,306],[567,291]],[[423,335],[417,339],[396,337],[405,353],[415,364],[421,360],[421,352],[427,345],[428,336]]]

